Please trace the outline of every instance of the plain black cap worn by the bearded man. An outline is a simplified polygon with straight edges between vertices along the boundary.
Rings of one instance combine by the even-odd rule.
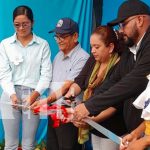
[[[117,19],[108,22],[108,25],[114,26],[131,16],[142,14],[150,15],[150,7],[140,0],[128,0],[119,7]]]

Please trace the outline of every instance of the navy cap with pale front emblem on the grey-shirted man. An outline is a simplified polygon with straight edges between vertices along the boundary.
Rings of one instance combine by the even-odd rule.
[[[78,24],[70,18],[62,18],[57,22],[54,30],[49,31],[49,33],[55,32],[57,34],[72,34],[79,33]]]

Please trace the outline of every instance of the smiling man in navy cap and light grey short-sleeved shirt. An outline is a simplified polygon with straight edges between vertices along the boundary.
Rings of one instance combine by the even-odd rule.
[[[78,42],[78,24],[70,18],[62,18],[58,21],[54,30],[60,51],[53,61],[53,76],[50,85],[50,95],[32,105],[42,105],[56,101],[61,104],[62,97],[73,83],[74,78],[80,73],[89,54],[83,50]],[[49,118],[47,133],[48,150],[80,150],[78,144],[78,128],[72,123],[61,124],[58,128],[52,127],[53,121]]]

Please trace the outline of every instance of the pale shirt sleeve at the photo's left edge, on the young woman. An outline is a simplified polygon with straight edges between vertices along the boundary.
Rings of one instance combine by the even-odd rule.
[[[3,43],[0,44],[0,84],[9,96],[16,93],[12,80],[12,69]]]

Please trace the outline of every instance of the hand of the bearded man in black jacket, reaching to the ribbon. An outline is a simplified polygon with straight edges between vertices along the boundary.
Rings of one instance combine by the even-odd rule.
[[[86,109],[85,105],[79,104],[74,108],[74,120],[81,121],[83,118],[89,115],[89,111]]]

